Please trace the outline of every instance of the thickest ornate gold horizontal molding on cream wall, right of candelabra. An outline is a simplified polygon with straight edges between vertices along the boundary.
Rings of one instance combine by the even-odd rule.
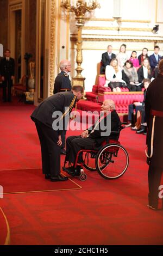
[[[109,30],[109,31],[143,31],[143,32],[151,32],[152,28],[119,28],[119,27],[86,27],[83,29],[87,30]]]

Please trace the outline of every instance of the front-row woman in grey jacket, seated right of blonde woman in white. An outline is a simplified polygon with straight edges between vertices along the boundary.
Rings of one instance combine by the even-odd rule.
[[[126,86],[130,92],[141,91],[136,68],[133,66],[133,63],[130,60],[127,60],[127,62],[124,64],[124,68],[122,70],[122,79],[126,82]]]

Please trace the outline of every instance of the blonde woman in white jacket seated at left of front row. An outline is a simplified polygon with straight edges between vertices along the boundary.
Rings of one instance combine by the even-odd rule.
[[[112,92],[121,92],[121,87],[126,87],[126,82],[122,80],[122,71],[118,66],[118,60],[112,59],[110,65],[105,69],[106,83],[105,86],[110,87]]]

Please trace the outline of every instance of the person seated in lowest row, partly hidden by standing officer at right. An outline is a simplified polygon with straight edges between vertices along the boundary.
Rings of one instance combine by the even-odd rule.
[[[149,86],[149,83],[151,83],[151,80],[149,78],[146,78],[146,79],[143,80],[143,85],[145,87],[143,101],[142,102],[133,102],[133,104],[130,104],[128,106],[128,121],[129,121],[129,123],[126,125],[126,127],[130,127],[131,126],[132,115],[134,113],[134,109],[135,109],[135,112],[136,112],[136,115],[137,115],[137,111],[141,112],[142,109],[145,107],[146,92],[147,92],[147,88]],[[136,127],[134,127],[133,129],[137,130]]]

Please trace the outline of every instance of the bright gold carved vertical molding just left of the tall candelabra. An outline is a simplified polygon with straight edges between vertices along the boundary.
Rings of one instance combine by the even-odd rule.
[[[50,88],[49,94],[53,95],[54,71],[55,71],[55,26],[56,26],[56,3],[51,0],[51,27],[50,27]]]

